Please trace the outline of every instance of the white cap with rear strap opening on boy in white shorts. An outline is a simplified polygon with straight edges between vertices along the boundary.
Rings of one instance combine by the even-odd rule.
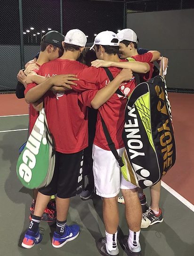
[[[118,43],[111,42],[113,39],[117,39]],[[97,34],[94,39],[94,44],[89,50],[91,50],[95,44],[119,46],[119,38],[114,32],[106,30]]]

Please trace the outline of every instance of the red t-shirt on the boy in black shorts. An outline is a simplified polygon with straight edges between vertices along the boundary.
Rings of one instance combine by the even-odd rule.
[[[87,66],[75,60],[52,60],[43,64],[39,75],[52,77],[62,74],[77,74]],[[26,92],[36,84],[30,84]],[[56,151],[64,154],[79,152],[88,146],[87,107],[78,100],[78,93],[67,91],[44,95],[45,112],[50,133],[55,140]]]

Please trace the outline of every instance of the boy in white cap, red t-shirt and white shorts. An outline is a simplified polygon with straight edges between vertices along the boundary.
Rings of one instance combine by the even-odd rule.
[[[125,65],[134,72],[147,73],[148,63],[126,62],[123,63],[119,57],[119,39],[111,31],[97,34],[91,49],[96,51],[99,60],[109,60],[117,63],[117,67]],[[110,68],[115,77],[120,68]],[[129,238],[124,237],[123,245],[132,254],[139,255],[141,247],[139,244],[139,233],[141,225],[142,209],[138,198],[137,188],[121,177],[120,166],[111,152],[102,127],[102,119],[109,131],[115,148],[119,155],[123,153],[122,130],[124,127],[124,110],[127,97],[135,88],[135,79],[126,81],[119,86],[122,95],[112,90],[112,96],[104,100],[104,90],[108,87],[110,79],[104,68],[90,67],[78,74],[77,86],[73,90],[81,92],[83,104],[98,109],[96,135],[93,145],[93,172],[97,195],[103,197],[103,217],[105,222],[105,238],[98,240],[97,247],[104,256],[118,255],[117,228],[119,224],[119,211],[117,196],[120,188],[123,195],[128,197],[126,202],[126,219],[129,226]],[[123,95],[124,94],[124,95]],[[130,207],[129,207],[130,204]],[[129,209],[132,208],[132,212]],[[127,238],[127,239],[126,239]]]

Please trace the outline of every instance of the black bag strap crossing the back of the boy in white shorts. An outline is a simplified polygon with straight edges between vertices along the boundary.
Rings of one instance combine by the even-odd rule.
[[[108,76],[108,78],[110,79],[110,81],[113,81],[114,77],[111,73],[111,71],[108,69],[108,68],[104,68],[105,71],[106,71],[106,74]],[[119,89],[117,89],[116,91],[117,94],[120,94],[121,96],[125,96]],[[100,115],[101,116],[101,115]],[[116,158],[117,162],[119,163],[119,166],[123,166],[124,163],[122,162],[122,158],[121,156],[118,154],[116,148],[115,148],[115,145],[113,143],[113,140],[108,132],[108,129],[105,125],[105,121],[103,120],[102,116],[101,116],[101,120],[102,120],[102,127],[103,127],[103,130],[104,130],[104,133],[105,133],[105,137],[106,137],[106,141],[108,143],[108,147],[110,148],[110,150],[112,151],[114,157]]]

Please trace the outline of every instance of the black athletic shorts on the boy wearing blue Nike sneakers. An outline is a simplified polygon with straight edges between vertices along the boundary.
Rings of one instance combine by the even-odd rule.
[[[39,192],[46,196],[56,195],[60,198],[70,198],[80,194],[84,188],[82,175],[83,151],[73,154],[56,152],[56,162],[53,178]]]

